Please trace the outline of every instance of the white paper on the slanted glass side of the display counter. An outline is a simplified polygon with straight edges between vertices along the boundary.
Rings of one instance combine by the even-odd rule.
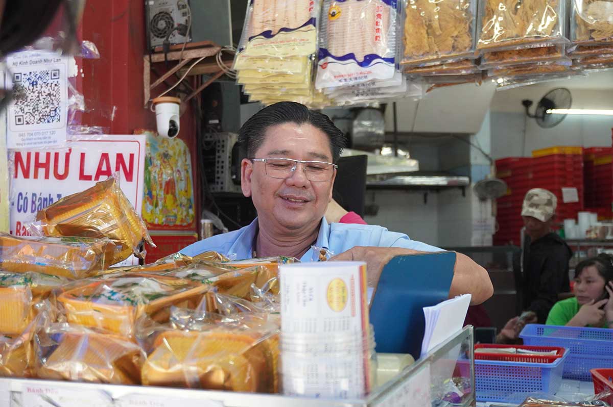
[[[392,390],[381,407],[423,407],[432,403],[430,396],[430,364]]]

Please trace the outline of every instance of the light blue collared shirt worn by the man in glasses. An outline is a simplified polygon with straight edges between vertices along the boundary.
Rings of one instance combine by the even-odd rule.
[[[229,233],[218,234],[199,241],[181,250],[188,256],[196,256],[203,252],[214,251],[236,260],[253,257],[253,241],[257,232],[257,218],[251,225]],[[421,252],[442,252],[443,249],[422,242],[412,241],[404,233],[390,232],[382,226],[357,225],[356,223],[328,224],[322,218],[316,247],[324,247],[338,255],[355,246],[369,247],[402,247]],[[316,261],[318,254],[313,248],[307,250],[300,261]]]

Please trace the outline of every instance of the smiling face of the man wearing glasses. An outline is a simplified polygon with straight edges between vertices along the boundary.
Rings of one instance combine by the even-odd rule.
[[[266,131],[253,158],[272,157],[331,163],[332,151],[326,133],[311,124],[287,122]],[[243,194],[251,196],[258,217],[273,230],[298,231],[317,225],[332,200],[336,171],[330,181],[313,182],[307,179],[303,164],[287,179],[267,176],[264,162],[243,160],[241,170]]]

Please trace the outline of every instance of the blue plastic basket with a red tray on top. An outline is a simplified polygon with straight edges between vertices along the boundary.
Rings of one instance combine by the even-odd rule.
[[[477,401],[521,403],[533,393],[555,394],[562,384],[568,351],[552,363],[474,360]]]

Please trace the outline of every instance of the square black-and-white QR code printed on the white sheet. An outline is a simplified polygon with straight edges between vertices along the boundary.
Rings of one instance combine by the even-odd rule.
[[[61,86],[59,69],[15,72],[15,125],[59,123]]]

